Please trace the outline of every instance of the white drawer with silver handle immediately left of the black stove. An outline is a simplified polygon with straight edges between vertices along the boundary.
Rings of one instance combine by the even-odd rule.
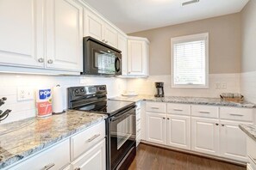
[[[71,138],[72,161],[105,137],[105,121]]]

